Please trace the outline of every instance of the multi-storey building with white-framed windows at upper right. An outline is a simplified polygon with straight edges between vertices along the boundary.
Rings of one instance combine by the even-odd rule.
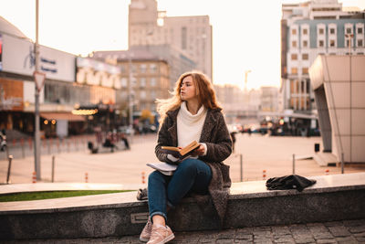
[[[281,88],[284,111],[316,113],[308,69],[318,55],[362,55],[365,12],[338,0],[282,5]]]

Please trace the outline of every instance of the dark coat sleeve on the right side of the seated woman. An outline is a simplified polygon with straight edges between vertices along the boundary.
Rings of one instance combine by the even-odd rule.
[[[222,112],[218,112],[211,139],[210,142],[206,142],[207,154],[201,157],[201,159],[204,162],[211,163],[223,162],[224,159],[232,154],[232,140]]]

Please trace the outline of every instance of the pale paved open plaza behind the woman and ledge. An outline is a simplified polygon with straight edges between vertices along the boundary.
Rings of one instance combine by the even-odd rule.
[[[241,181],[240,154],[243,155],[243,180],[262,180],[263,171],[266,178],[292,174],[292,155],[310,156],[314,153],[314,144],[321,143],[320,137],[269,137],[253,134],[238,134],[235,154],[231,155],[226,164],[231,165],[231,177],[234,182]],[[61,151],[54,154],[55,182],[71,183],[85,182],[88,173],[89,183],[141,184],[151,172],[147,163],[157,161],[154,155],[156,135],[149,134],[135,137],[130,151],[115,153],[89,154],[86,149],[70,152]],[[46,153],[46,152],[45,152]],[[0,156],[0,183],[6,180],[8,163]],[[42,182],[51,181],[52,154],[41,157]],[[297,175],[339,174],[340,167],[320,167],[314,160],[297,160]],[[15,156],[11,166],[10,180],[13,184],[31,183],[34,171],[34,157]],[[345,173],[365,171],[365,164],[352,164],[345,167]]]

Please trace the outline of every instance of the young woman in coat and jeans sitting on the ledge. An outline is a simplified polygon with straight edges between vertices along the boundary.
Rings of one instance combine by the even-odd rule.
[[[167,211],[188,192],[209,193],[223,219],[231,186],[229,167],[222,162],[232,153],[232,141],[212,82],[200,72],[184,73],[176,82],[172,98],[159,100],[157,110],[161,127],[155,153],[160,161],[178,167],[170,176],[159,171],[149,176],[150,218],[140,236],[148,244],[162,244],[174,238],[166,226]],[[183,162],[162,151],[164,145],[184,147],[193,140],[200,147]]]

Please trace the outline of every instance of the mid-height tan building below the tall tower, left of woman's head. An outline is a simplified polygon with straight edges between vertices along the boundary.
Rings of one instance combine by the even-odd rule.
[[[95,51],[91,56],[120,68],[120,90],[116,100],[122,107],[128,108],[130,92],[135,115],[141,114],[143,110],[155,112],[156,99],[169,98],[170,66],[165,59],[151,51],[145,48]]]

